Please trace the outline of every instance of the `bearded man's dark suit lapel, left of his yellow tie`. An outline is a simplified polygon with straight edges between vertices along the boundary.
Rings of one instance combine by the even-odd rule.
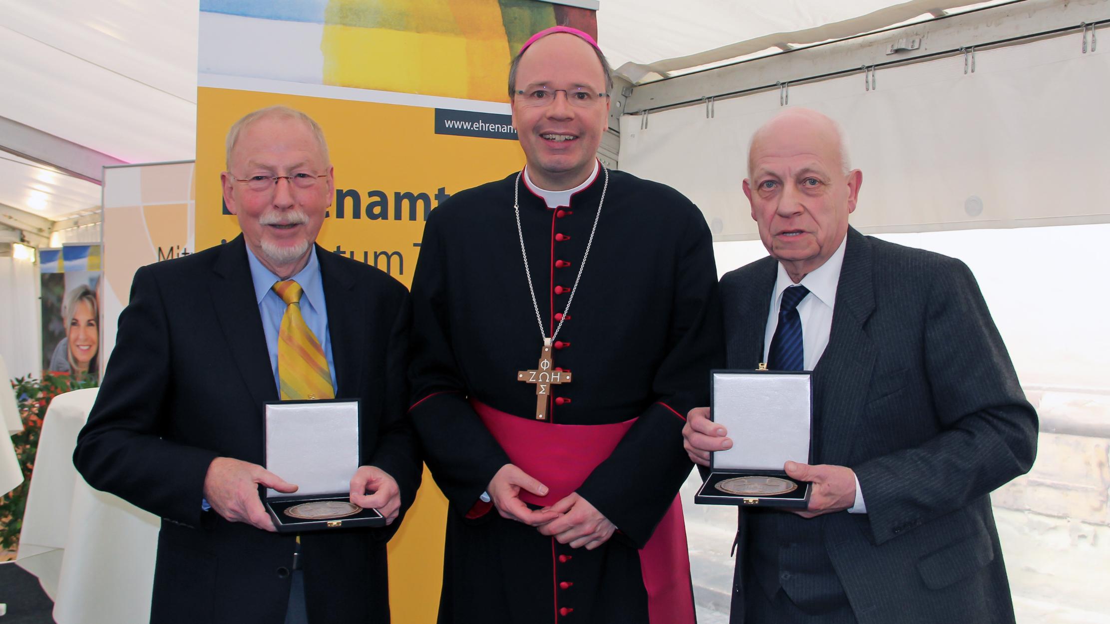
[[[278,386],[242,234],[221,248],[213,271],[216,279],[210,289],[216,318],[243,382],[258,405],[276,401]]]

